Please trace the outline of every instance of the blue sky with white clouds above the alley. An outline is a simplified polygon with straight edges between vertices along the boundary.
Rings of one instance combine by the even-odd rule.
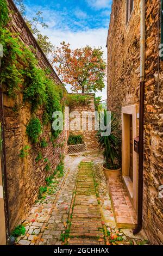
[[[106,38],[112,0],[24,0],[28,17],[43,12],[48,28],[40,28],[55,46],[65,41],[72,48],[102,46],[106,59]],[[106,88],[97,93],[106,99]]]

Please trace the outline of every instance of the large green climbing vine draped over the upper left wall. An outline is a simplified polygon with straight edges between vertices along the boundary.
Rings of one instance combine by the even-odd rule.
[[[9,96],[16,97],[18,93],[22,93],[23,101],[30,102],[32,112],[36,112],[40,106],[45,109],[43,123],[52,123],[53,112],[63,109],[63,89],[49,78],[50,74],[47,70],[39,68],[34,48],[26,47],[18,38],[18,34],[11,33],[5,28],[8,20],[7,2],[1,0],[0,43],[3,45],[4,58],[0,81],[7,86]],[[27,134],[29,134],[28,129]],[[31,139],[30,135],[29,138]],[[37,139],[32,141],[35,143]]]

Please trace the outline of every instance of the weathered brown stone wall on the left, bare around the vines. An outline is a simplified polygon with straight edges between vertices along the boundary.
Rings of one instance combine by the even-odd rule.
[[[20,32],[21,40],[27,45],[33,45],[36,50],[36,57],[39,60],[41,68],[51,69],[51,76],[58,86],[63,87],[57,74],[47,58],[40,50],[33,35],[29,32],[21,15],[17,13],[16,8],[9,1],[9,8],[12,11],[11,31]],[[11,15],[11,14],[10,14]],[[64,88],[64,87],[63,87]],[[29,120],[35,116],[42,121],[43,109],[40,108],[34,115],[31,113],[31,106],[28,102],[23,102],[23,95],[20,93],[16,99],[12,99],[7,94],[3,94],[4,101],[4,118],[5,118],[5,144],[7,153],[7,179],[8,179],[8,200],[9,200],[9,222],[12,230],[17,224],[23,221],[38,197],[39,187],[45,186],[45,178],[51,175],[59,162],[62,155],[67,149],[67,133],[60,133],[54,144],[51,142],[51,124],[43,126],[43,132],[40,140],[45,138],[48,147],[41,149],[39,145],[32,145],[26,135],[26,127]],[[16,104],[16,105],[15,105]],[[17,108],[15,108],[17,106]],[[29,145],[29,155],[23,159],[18,156],[20,150]],[[38,153],[41,153],[43,159],[38,163],[35,162]],[[51,163],[51,170],[45,170],[46,164],[44,159]]]

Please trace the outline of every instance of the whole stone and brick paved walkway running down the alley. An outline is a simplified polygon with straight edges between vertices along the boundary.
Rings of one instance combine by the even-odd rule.
[[[64,176],[55,176],[45,197],[29,212],[18,245],[147,243],[143,231],[133,236],[131,229],[116,229],[101,155],[66,156],[64,162]]]

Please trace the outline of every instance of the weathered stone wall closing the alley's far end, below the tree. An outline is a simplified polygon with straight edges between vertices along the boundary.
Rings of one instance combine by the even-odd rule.
[[[82,95],[82,94],[81,94]],[[77,117],[78,121],[77,124],[80,122],[80,129],[73,131],[70,127],[70,133],[73,135],[83,135],[84,142],[86,144],[87,150],[97,150],[98,149],[98,143],[97,143],[97,138],[96,134],[97,131],[95,131],[95,94],[83,94],[83,95],[89,95],[90,99],[89,102],[85,102],[85,104],[81,103],[74,105],[70,108],[70,112],[72,111],[77,111],[80,116]],[[83,120],[85,121],[86,124],[86,129],[82,130],[82,113],[89,112],[89,115],[84,114],[83,115]],[[89,116],[90,119],[92,119],[92,129],[89,129]],[[71,119],[73,120],[73,119]],[[90,122],[91,126],[91,122]]]

